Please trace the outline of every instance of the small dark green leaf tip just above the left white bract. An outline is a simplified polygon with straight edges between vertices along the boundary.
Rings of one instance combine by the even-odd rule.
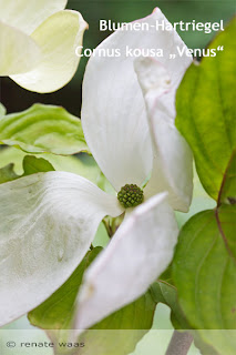
[[[39,172],[54,171],[54,168],[48,160],[27,155],[23,159],[23,175],[31,175]]]

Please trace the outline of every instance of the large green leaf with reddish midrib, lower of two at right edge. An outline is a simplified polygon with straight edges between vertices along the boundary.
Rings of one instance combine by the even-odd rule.
[[[173,262],[178,302],[187,322],[218,354],[235,354],[236,210],[222,205],[193,216],[183,227]]]

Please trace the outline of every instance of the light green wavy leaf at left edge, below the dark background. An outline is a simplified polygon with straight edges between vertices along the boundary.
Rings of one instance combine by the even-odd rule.
[[[29,153],[88,151],[81,121],[61,106],[34,104],[0,121],[0,141]]]

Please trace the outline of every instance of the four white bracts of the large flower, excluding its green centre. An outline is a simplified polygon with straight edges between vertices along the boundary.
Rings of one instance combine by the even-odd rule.
[[[138,20],[154,24],[158,9]],[[85,273],[74,326],[86,328],[134,301],[166,268],[178,229],[174,210],[192,199],[192,154],[175,129],[175,92],[191,59],[178,34],[117,31],[99,49],[163,48],[151,58],[92,57],[83,82],[88,144],[116,192],[144,187],[144,202],[124,209],[115,195],[71,173],[48,172],[0,185],[0,324],[29,312],[74,271],[105,215],[126,213],[109,246]],[[171,60],[170,53],[176,59]]]

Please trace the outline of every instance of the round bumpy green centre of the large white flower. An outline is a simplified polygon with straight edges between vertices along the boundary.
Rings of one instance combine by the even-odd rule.
[[[126,184],[121,187],[117,199],[123,207],[135,207],[143,202],[143,190],[135,184]]]

